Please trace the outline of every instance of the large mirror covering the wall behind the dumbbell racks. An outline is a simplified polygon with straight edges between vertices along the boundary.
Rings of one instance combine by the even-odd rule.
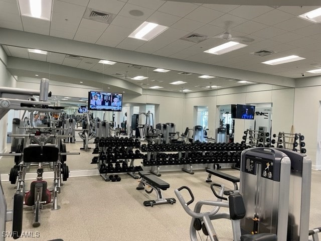
[[[228,124],[226,112],[229,110],[222,112],[222,109],[238,103],[256,105],[262,112],[269,108],[271,121],[264,125],[274,133],[289,131],[293,122],[293,88],[182,72],[175,66],[164,70],[133,63],[103,64],[99,59],[82,56],[49,52],[41,55],[30,53],[26,48],[3,47],[9,56],[8,69],[17,76],[17,87],[39,89],[41,78],[50,79],[49,89],[53,95],[49,101],[64,106],[67,115],[75,116],[77,128],[81,126],[83,115],[78,113],[78,108],[88,105],[88,91],[91,90],[122,95],[122,111],[93,110],[91,113],[93,119],[114,123],[114,127],[126,129],[127,134],[131,116],[149,110],[153,113],[153,126],[174,123],[176,132],[182,134],[188,127],[192,136],[193,127],[201,125],[207,129],[209,138],[216,139],[217,129]],[[21,117],[21,113],[12,112],[9,123],[13,117]],[[145,115],[139,115],[139,122],[146,122]],[[258,118],[255,120],[257,123],[253,122],[235,119],[234,142],[242,141],[244,130],[261,125]],[[76,137],[76,142],[81,143],[82,140]],[[94,147],[94,144],[90,145]],[[73,144],[68,144],[68,148],[79,151],[73,149]],[[90,165],[91,152],[90,155],[89,152],[81,152],[80,156],[80,162],[69,163],[71,170],[96,168]],[[11,167],[8,165],[8,170],[2,170],[8,173]]]

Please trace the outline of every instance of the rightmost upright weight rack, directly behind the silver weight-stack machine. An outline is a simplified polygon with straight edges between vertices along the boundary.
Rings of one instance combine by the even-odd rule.
[[[277,138],[277,140],[271,140],[272,144],[276,144],[276,148],[288,149],[303,154],[306,153],[306,149],[304,148],[305,142],[303,142],[304,136],[301,135],[301,133],[279,132],[278,135],[273,134],[273,138]],[[297,147],[299,149],[297,149]]]

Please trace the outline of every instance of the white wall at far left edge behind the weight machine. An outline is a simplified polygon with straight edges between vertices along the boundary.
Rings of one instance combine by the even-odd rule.
[[[7,54],[0,46],[0,87],[16,87],[16,79],[7,70]],[[12,121],[12,120],[9,120]],[[0,153],[7,148],[8,114],[0,120]]]

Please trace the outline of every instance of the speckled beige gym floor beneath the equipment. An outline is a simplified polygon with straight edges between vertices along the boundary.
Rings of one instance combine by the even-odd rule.
[[[79,148],[79,144],[68,145],[70,146],[69,151]],[[89,164],[92,156],[91,152],[82,152],[80,156],[69,156],[67,163],[71,170],[80,168],[82,163],[93,168]],[[239,175],[237,170],[224,171],[234,176]],[[51,204],[45,205],[41,210],[39,227],[32,227],[32,208],[27,206],[24,208],[23,231],[32,232],[34,236],[39,235],[40,237],[25,237],[18,240],[53,238],[62,238],[64,241],[190,240],[191,217],[179,202],[173,205],[145,207],[143,201],[154,199],[155,193],[147,194],[144,190],[136,190],[137,180],[127,174],[120,174],[120,177],[120,182],[105,182],[100,176],[69,178],[58,196],[61,208],[51,210]],[[161,178],[171,185],[167,191],[164,191],[165,198],[176,198],[174,189],[186,185],[192,189],[196,201],[214,199],[210,184],[205,182],[207,173],[204,170],[196,171],[194,175],[182,171],[162,172]],[[225,184],[229,189],[233,188],[232,183],[220,178],[212,177],[212,180]],[[50,187],[52,180],[47,179],[47,181]],[[26,187],[30,182],[26,182]],[[318,206],[321,202],[320,183],[321,172],[312,171],[310,228],[321,226],[321,209]],[[3,182],[2,185],[7,197],[8,209],[11,209],[15,187],[10,182]],[[188,198],[188,195],[186,197]],[[194,203],[191,204],[192,208]],[[221,211],[225,210],[221,209]],[[7,222],[8,231],[11,230],[11,225],[11,222]],[[221,241],[233,239],[229,220],[214,221],[214,227]],[[201,233],[202,240],[206,240]],[[6,240],[13,239],[7,238]]]

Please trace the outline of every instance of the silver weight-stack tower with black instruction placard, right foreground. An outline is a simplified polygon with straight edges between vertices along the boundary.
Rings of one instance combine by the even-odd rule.
[[[242,234],[275,233],[278,240],[287,240],[289,188],[290,158],[286,154],[267,148],[244,150],[240,193],[246,215],[241,219]]]

